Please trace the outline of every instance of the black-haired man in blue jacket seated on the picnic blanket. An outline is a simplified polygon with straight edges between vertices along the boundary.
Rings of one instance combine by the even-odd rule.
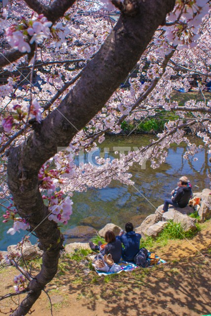
[[[121,231],[116,239],[121,240],[125,249],[122,249],[122,258],[125,261],[133,261],[135,255],[140,249],[140,239],[141,235],[136,234],[133,230],[133,224],[127,223],[125,225],[125,231]]]

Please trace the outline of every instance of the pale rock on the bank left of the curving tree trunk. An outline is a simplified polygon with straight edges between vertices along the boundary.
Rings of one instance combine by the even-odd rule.
[[[22,251],[16,249],[16,245],[11,245],[7,247],[8,253],[17,253],[18,256],[23,257],[24,260],[31,260],[35,257],[41,257],[43,251],[39,249],[37,245],[32,245],[31,242],[25,242],[22,247]]]

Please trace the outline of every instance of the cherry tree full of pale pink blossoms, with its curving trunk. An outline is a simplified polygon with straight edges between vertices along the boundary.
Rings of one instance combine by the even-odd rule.
[[[1,73],[10,73],[0,86],[0,198],[12,196],[3,217],[12,222],[8,234],[28,230],[43,250],[33,278],[7,258],[21,272],[15,291],[27,294],[13,316],[26,315],[57,272],[64,242],[58,224],[70,219],[75,191],[112,179],[133,184],[129,167],[146,159],[158,167],[173,143],[185,141],[189,158],[201,148],[186,137],[190,127],[211,150],[211,101],[203,92],[211,81],[209,1],[51,2],[9,1],[0,18],[11,46],[0,53]],[[115,25],[112,12],[120,13]],[[204,101],[179,105],[174,90],[188,91],[193,78]],[[120,87],[127,79],[130,88]],[[147,146],[112,161],[97,158],[98,165],[74,164],[81,148],[95,150],[123,121],[170,111],[176,118]]]

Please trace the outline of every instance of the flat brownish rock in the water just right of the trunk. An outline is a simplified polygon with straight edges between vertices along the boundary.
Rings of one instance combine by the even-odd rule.
[[[91,237],[95,236],[96,230],[90,226],[76,226],[67,230],[64,235],[67,240],[76,239],[80,241],[88,241]]]

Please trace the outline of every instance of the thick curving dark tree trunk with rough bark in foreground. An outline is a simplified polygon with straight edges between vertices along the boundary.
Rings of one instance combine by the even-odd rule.
[[[26,142],[8,152],[8,185],[18,213],[28,220],[31,229],[48,214],[38,187],[37,174],[41,165],[57,153],[57,147],[68,146],[77,131],[104,107],[136,65],[174,4],[175,0],[137,0],[136,15],[120,16],[100,51],[84,68],[81,78],[60,106],[41,124],[34,124],[35,130]],[[63,243],[57,224],[46,219],[35,233],[44,250],[42,267],[28,286],[30,293],[12,316],[26,315],[57,272]]]

